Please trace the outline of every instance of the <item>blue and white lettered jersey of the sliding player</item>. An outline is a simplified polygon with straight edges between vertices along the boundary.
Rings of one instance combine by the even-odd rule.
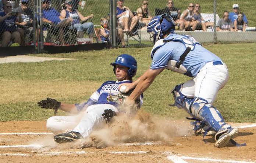
[[[90,96],[89,100],[86,103],[75,104],[78,111],[81,111],[85,105],[96,105],[96,104],[110,104],[117,107],[117,103],[113,101],[107,101],[107,96],[121,93],[118,90],[118,86],[123,83],[131,83],[131,80],[123,80],[123,81],[106,81],[104,82],[99,89],[97,89],[92,96]],[[140,105],[143,103],[143,94],[140,96]]]

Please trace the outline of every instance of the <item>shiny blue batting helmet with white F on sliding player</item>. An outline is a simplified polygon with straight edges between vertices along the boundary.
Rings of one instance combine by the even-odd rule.
[[[110,63],[110,65],[114,66],[114,74],[115,74],[115,65],[119,64],[125,67],[128,67],[128,71],[127,74],[128,76],[134,77],[136,75],[137,72],[137,61],[134,57],[132,57],[131,55],[128,54],[121,54],[119,56],[117,56],[117,58],[115,59],[115,62]]]

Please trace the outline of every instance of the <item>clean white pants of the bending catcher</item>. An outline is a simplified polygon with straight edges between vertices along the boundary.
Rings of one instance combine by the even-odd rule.
[[[195,78],[182,85],[181,93],[189,98],[205,99],[212,104],[217,97],[218,90],[225,86],[228,78],[228,68],[224,63],[214,65],[213,62],[208,62]]]

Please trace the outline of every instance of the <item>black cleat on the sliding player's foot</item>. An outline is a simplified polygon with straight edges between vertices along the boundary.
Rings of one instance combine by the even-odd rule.
[[[57,143],[71,142],[82,138],[82,135],[76,131],[69,131],[67,133],[58,134],[53,137]]]

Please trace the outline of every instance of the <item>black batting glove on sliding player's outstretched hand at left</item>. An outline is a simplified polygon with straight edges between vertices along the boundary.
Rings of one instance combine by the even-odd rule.
[[[46,100],[39,101],[38,106],[45,109],[53,109],[54,115],[56,115],[58,108],[60,107],[60,102],[58,102],[55,99],[47,97]]]

